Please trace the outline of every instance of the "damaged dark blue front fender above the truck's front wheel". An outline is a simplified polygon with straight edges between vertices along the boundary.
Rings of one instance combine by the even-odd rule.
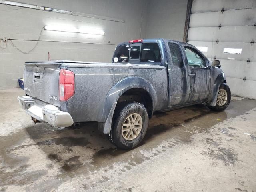
[[[208,105],[209,106],[216,106],[216,100],[217,100],[217,95],[218,95],[218,89],[222,82],[226,80],[225,74],[222,72],[220,73],[215,82],[212,91],[210,92],[210,96],[208,98]]]

